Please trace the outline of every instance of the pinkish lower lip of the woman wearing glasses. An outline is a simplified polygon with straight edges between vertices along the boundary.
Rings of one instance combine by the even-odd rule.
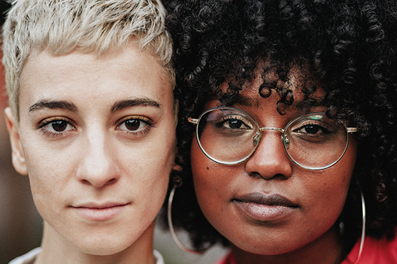
[[[263,205],[259,203],[245,203],[242,201],[235,202],[245,215],[261,222],[270,222],[281,220],[291,215],[296,210],[294,207],[281,205]]]

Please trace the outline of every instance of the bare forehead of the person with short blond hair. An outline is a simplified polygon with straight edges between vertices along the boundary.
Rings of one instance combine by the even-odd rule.
[[[34,52],[22,70],[19,104],[20,111],[27,111],[38,100],[84,98],[110,104],[140,96],[169,106],[172,94],[168,75],[157,59],[131,44],[99,56],[79,51],[63,56]]]

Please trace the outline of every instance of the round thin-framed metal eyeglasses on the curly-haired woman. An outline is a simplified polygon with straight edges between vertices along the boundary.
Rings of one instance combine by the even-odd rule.
[[[310,113],[291,120],[284,129],[259,127],[249,114],[233,107],[208,109],[196,118],[196,139],[201,151],[210,160],[235,165],[249,159],[257,149],[266,130],[281,133],[288,157],[304,169],[321,170],[338,162],[349,145],[349,133],[356,127],[346,127],[340,120],[325,113]]]

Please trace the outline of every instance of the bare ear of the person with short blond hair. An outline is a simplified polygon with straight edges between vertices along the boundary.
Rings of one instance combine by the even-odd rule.
[[[22,151],[21,141],[20,141],[20,132],[18,130],[18,124],[15,120],[13,112],[10,107],[7,107],[4,111],[6,116],[6,125],[8,129],[8,133],[10,134],[10,143],[11,150],[13,156],[13,165],[15,171],[22,175],[27,175],[27,166],[26,160],[24,158],[24,154]]]

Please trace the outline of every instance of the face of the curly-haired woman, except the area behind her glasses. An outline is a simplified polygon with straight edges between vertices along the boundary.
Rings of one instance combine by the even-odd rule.
[[[250,114],[260,127],[284,128],[304,114],[294,103],[280,115],[279,95],[273,92],[270,98],[261,98],[258,89],[259,84],[252,84],[241,93],[246,99],[242,102],[250,103],[233,107]],[[294,91],[295,102],[301,97]],[[205,109],[216,104],[217,100],[207,102]],[[254,254],[284,254],[328,236],[344,206],[355,159],[351,138],[337,164],[320,171],[303,169],[289,159],[276,130],[265,130],[254,154],[237,165],[212,162],[196,140],[192,142],[194,187],[201,210],[219,233]]]

